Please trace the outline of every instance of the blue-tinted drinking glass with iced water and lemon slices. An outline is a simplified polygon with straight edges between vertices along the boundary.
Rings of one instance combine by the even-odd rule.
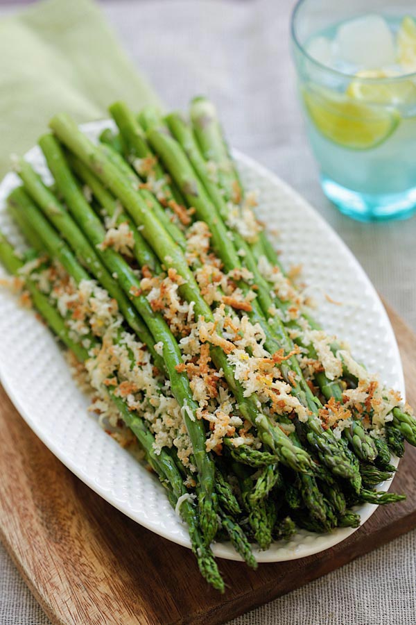
[[[330,66],[324,50],[320,60],[308,50],[316,38],[333,42],[338,28],[356,17],[381,16],[397,33],[415,12],[414,0],[390,6],[383,0],[300,0],[293,11],[300,99],[322,189],[342,213],[363,221],[404,219],[416,210],[416,73],[354,72]]]

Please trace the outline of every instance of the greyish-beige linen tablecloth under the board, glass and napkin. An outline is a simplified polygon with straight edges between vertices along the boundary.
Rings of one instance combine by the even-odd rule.
[[[137,67],[169,106],[211,96],[234,146],[311,201],[416,331],[416,217],[358,224],[318,184],[295,96],[288,47],[291,0],[122,0],[103,3]],[[0,10],[1,13],[12,9]],[[234,625],[415,625],[416,532]],[[0,546],[0,625],[49,625]],[[87,624],[85,624],[87,625]]]

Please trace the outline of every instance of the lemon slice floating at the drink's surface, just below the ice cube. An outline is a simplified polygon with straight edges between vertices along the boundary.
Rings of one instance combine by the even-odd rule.
[[[380,69],[368,69],[356,74],[357,78],[397,78],[398,74]],[[396,106],[416,104],[416,85],[412,81],[399,79],[391,82],[352,81],[347,88],[347,95],[356,100],[374,104]]]

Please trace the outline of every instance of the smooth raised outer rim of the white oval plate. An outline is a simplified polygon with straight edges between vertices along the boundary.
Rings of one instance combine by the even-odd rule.
[[[105,119],[105,120],[98,120],[95,122],[89,122],[87,124],[82,124],[80,128],[82,128],[84,131],[87,131],[87,132],[98,133],[99,131],[103,130],[103,128],[113,127],[113,126],[114,124],[112,120]],[[29,150],[26,153],[25,156],[27,156],[28,158],[31,158],[33,151],[36,151],[36,150],[37,150],[37,147],[33,147],[31,150]],[[268,181],[270,181],[270,183],[272,183],[272,185],[276,186],[277,188],[280,188],[284,192],[286,197],[293,199],[293,203],[302,205],[303,210],[305,210],[306,212],[308,212],[310,215],[313,216],[313,219],[315,219],[315,221],[318,222],[318,224],[321,226],[323,231],[331,232],[331,235],[333,236],[333,238],[338,242],[340,249],[342,249],[343,255],[349,257],[349,260],[354,266],[355,271],[360,276],[361,280],[364,283],[366,283],[367,288],[372,294],[372,298],[374,302],[377,303],[377,307],[378,307],[377,313],[378,315],[381,315],[381,317],[383,318],[385,328],[388,328],[388,331],[390,334],[390,336],[388,337],[388,340],[389,340],[390,346],[395,351],[394,356],[398,365],[399,390],[404,396],[403,367],[401,365],[399,348],[397,346],[395,333],[390,324],[390,319],[388,318],[388,315],[385,311],[383,303],[381,302],[381,299],[379,298],[379,294],[376,292],[374,286],[372,285],[372,282],[370,281],[370,278],[368,278],[363,267],[361,267],[360,263],[358,262],[358,260],[356,259],[352,251],[343,242],[343,240],[340,238],[338,233],[336,233],[336,231],[334,231],[333,228],[331,228],[331,226],[325,221],[325,219],[318,213],[318,211],[315,210],[315,208],[313,208],[313,206],[311,206],[311,204],[308,201],[306,201],[306,199],[304,199],[304,197],[302,197],[300,193],[298,193],[290,185],[282,181],[281,178],[279,178],[279,176],[276,176],[275,174],[270,172],[270,170],[267,167],[264,167],[263,165],[258,163],[256,160],[250,158],[249,156],[246,156],[244,153],[242,153],[239,150],[233,149],[232,154],[234,158],[236,158],[237,162],[242,163],[246,167],[249,167],[256,174],[259,174],[259,176],[268,178]],[[5,185],[8,177],[13,176],[13,175],[14,174],[10,174],[10,173],[6,174],[5,178],[3,178],[3,180],[0,182],[0,191],[3,188],[3,185]],[[0,198],[0,203],[1,203],[1,198]],[[30,411],[24,409],[24,406],[22,405],[19,399],[19,394],[15,393],[12,390],[11,383],[9,383],[8,381],[7,373],[1,366],[1,363],[0,363],[0,381],[4,389],[6,390],[6,393],[8,394],[10,401],[12,401],[15,408],[17,408],[17,410],[19,411],[21,417],[24,419],[26,424],[31,428],[31,430],[35,433],[35,435],[37,435],[37,437],[39,437],[40,440],[42,440],[42,442],[49,449],[49,451],[51,451],[51,453],[53,453],[53,455],[56,456],[56,458],[58,458],[62,462],[62,464],[65,465],[74,475],[76,475],[81,481],[83,481],[83,483],[85,483],[88,487],[90,487],[100,497],[103,497],[103,499],[105,499],[107,503],[110,503],[114,508],[116,508],[120,512],[123,512],[123,514],[125,514],[127,517],[130,517],[130,519],[134,520],[139,525],[145,527],[146,529],[150,531],[153,531],[153,533],[156,533],[157,535],[162,536],[166,538],[167,540],[170,540],[171,542],[180,544],[183,547],[187,547],[188,549],[191,548],[191,544],[189,542],[189,539],[187,539],[187,537],[173,535],[168,530],[165,530],[164,528],[160,528],[159,526],[155,528],[153,523],[149,522],[146,518],[139,519],[138,518],[139,512],[130,510],[128,507],[126,507],[123,504],[123,502],[119,501],[113,494],[109,493],[103,487],[101,487],[96,482],[94,482],[93,479],[89,478],[89,476],[85,472],[83,472],[83,470],[79,469],[76,462],[73,462],[71,458],[69,458],[68,456],[65,456],[64,452],[60,451],[58,446],[53,442],[53,440],[50,437],[44,436],[42,432],[40,431],[40,428],[38,428],[37,424],[32,419],[30,415]],[[120,448],[120,451],[121,453],[123,452],[121,448]],[[392,464],[397,466],[398,463],[399,463],[399,460],[397,458],[392,459]],[[389,490],[393,479],[394,477],[391,480],[381,483],[381,485],[379,485],[378,490],[381,490],[381,491]],[[378,506],[372,503],[365,503],[363,506],[360,506],[361,524],[359,527],[362,527],[363,524],[367,522],[367,520],[375,512],[376,508],[378,508]],[[299,547],[298,549],[295,549],[289,552],[288,552],[288,545],[290,547],[290,542],[288,545],[279,543],[279,542],[273,543],[267,551],[260,551],[259,549],[255,549],[255,548],[253,549],[253,551],[259,563],[285,562],[285,561],[297,560],[299,558],[306,558],[309,556],[313,556],[315,553],[320,553],[322,551],[325,551],[326,549],[330,549],[331,547],[334,547],[336,544],[343,542],[343,540],[345,540],[347,537],[351,536],[354,532],[356,532],[357,529],[359,529],[359,527],[358,528],[337,528],[335,531],[333,531],[333,533],[322,534],[322,535],[304,532],[306,536],[309,536],[309,535],[313,536],[313,543],[308,544],[308,545],[302,545],[302,548]],[[226,560],[234,560],[234,561],[242,560],[241,556],[239,556],[239,554],[236,553],[236,551],[234,550],[234,548],[231,546],[229,542],[215,543],[212,545],[212,550],[214,552],[214,555],[218,558],[224,558]],[[290,557],[288,557],[288,553],[290,554]]]

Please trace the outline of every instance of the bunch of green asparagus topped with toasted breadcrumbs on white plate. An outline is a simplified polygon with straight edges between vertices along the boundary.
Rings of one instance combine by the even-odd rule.
[[[53,117],[39,141],[53,185],[18,161],[8,207],[27,248],[0,233],[0,260],[96,411],[135,436],[223,592],[211,542],[256,567],[254,543],[356,527],[356,504],[404,499],[374,487],[416,419],[311,317],[212,103],[194,99],[189,119],[110,113],[117,131],[96,143]]]

